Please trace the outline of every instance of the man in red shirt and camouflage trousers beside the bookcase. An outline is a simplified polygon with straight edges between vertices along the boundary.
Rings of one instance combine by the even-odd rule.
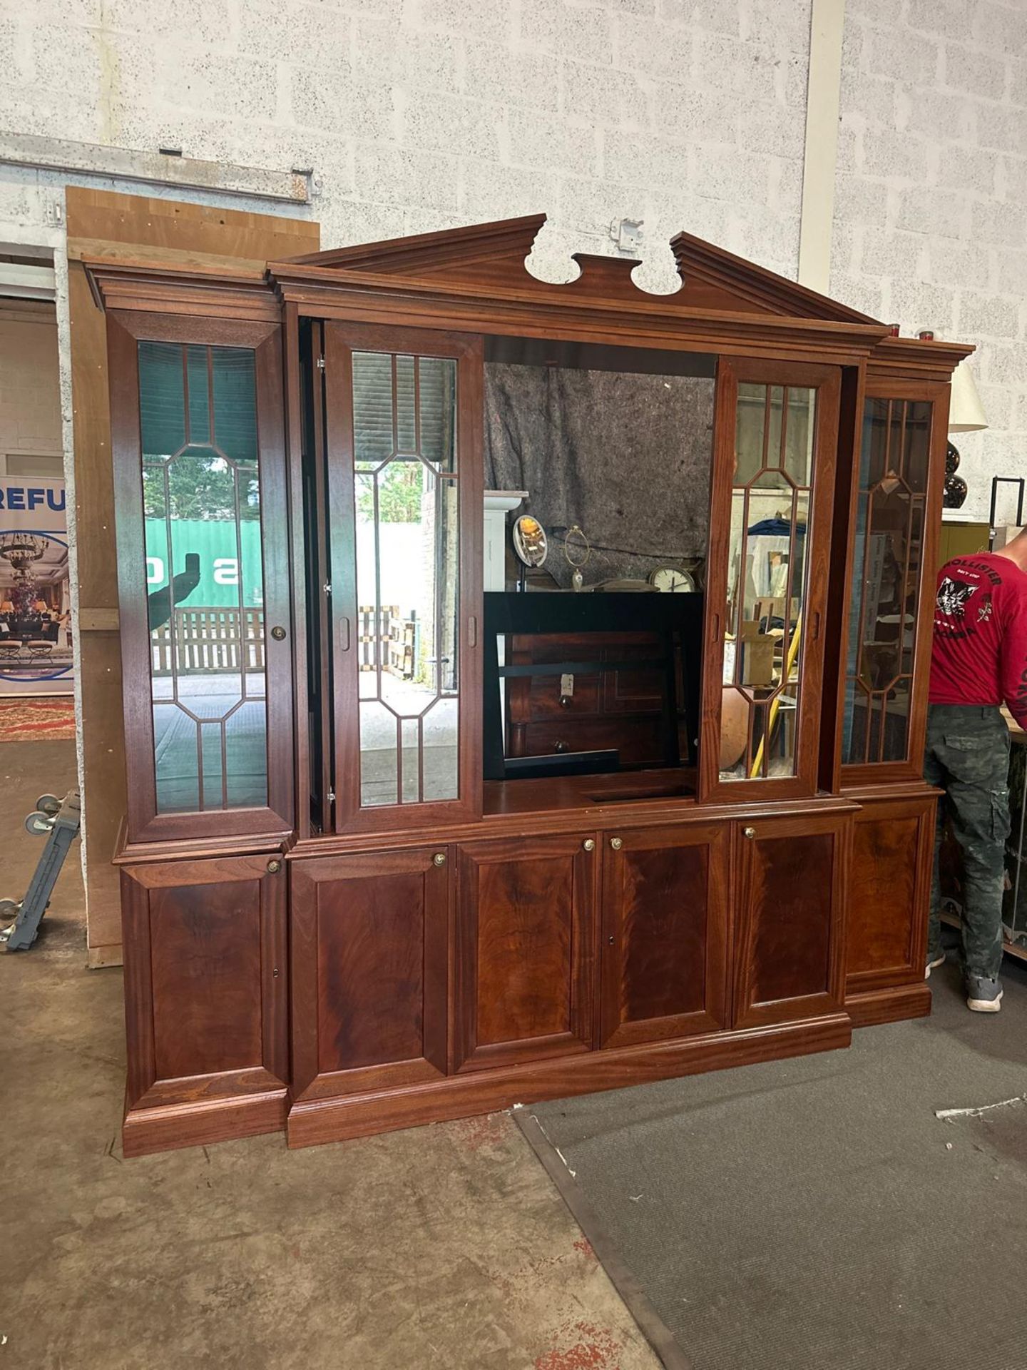
[[[945,817],[963,848],[967,1006],[998,1012],[1002,885],[1009,836],[1006,704],[1027,727],[1027,532],[1000,552],[957,556],[938,573],[924,778],[943,790],[934,844],[927,975],[941,945],[938,852]]]

